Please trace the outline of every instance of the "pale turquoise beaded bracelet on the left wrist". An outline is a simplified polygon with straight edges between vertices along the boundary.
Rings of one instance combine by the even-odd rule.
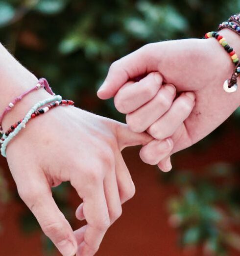
[[[6,157],[6,147],[8,145],[8,143],[13,139],[13,137],[15,137],[22,128],[25,128],[26,123],[30,120],[31,115],[41,106],[44,106],[45,104],[49,103],[49,102],[53,102],[53,101],[62,101],[62,97],[60,95],[56,95],[54,97],[48,98],[44,101],[40,101],[38,103],[36,103],[25,115],[23,121],[17,126],[17,128],[14,129],[13,132],[11,132],[9,134],[9,136],[3,141],[3,143],[1,144],[1,154],[2,156]]]

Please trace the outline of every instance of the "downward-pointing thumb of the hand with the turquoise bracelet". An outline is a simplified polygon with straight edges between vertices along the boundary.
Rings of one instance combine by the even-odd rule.
[[[32,211],[44,233],[63,256],[73,256],[77,249],[73,230],[56,205],[45,175],[39,173],[34,176],[32,172],[30,179],[27,177],[24,183],[16,183],[21,199]]]

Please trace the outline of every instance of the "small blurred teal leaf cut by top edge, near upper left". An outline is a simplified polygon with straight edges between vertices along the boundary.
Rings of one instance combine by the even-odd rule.
[[[61,12],[67,3],[67,0],[40,0],[35,9],[44,14],[56,14]]]

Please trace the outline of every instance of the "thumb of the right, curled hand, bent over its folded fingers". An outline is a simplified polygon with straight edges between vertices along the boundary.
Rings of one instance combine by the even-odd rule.
[[[149,62],[151,54],[151,49],[145,45],[115,61],[110,66],[105,81],[97,91],[97,96],[102,100],[112,98],[129,79],[145,75],[146,71],[157,70],[156,63]]]

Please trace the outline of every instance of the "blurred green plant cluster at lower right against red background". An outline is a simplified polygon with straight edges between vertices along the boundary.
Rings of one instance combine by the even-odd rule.
[[[240,234],[233,232],[240,228],[239,166],[180,171],[173,179],[180,193],[169,201],[169,222],[180,230],[180,244],[202,244],[206,255],[225,256],[229,247],[240,252]]]

